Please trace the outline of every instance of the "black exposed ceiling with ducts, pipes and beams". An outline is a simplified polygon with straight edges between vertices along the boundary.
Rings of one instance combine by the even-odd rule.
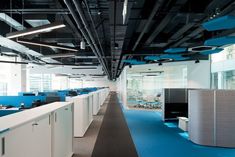
[[[25,60],[37,59],[44,64],[102,66],[108,78],[115,79],[128,65],[123,60],[164,62],[144,58],[160,56],[169,48],[202,46],[206,39],[235,32],[234,29],[208,32],[201,26],[211,18],[235,15],[234,0],[200,3],[198,0],[128,0],[125,21],[124,3],[125,0],[2,0],[0,35],[5,37],[9,32],[53,22],[64,23],[64,28],[19,39],[71,47],[77,52],[27,44],[24,46],[40,55],[35,57],[15,49],[13,52]],[[86,42],[85,50],[80,49],[81,41]],[[185,60],[208,59],[197,51],[180,55]]]

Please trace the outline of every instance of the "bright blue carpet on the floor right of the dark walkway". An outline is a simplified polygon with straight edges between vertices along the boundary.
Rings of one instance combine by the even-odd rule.
[[[139,157],[235,157],[235,149],[192,143],[187,133],[163,123],[160,114],[123,109]]]

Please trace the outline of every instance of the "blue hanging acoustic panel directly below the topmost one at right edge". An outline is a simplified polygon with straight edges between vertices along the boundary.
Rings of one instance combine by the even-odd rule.
[[[235,44],[235,36],[208,39],[204,42],[206,46],[224,46]]]

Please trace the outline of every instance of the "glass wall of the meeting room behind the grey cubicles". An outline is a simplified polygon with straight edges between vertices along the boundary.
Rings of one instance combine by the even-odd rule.
[[[185,88],[187,66],[156,66],[127,70],[127,106],[130,109],[161,110],[163,88]]]

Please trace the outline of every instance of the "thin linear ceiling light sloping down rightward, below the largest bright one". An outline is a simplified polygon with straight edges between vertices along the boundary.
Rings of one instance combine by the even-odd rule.
[[[34,45],[34,46],[49,47],[49,48],[61,49],[61,50],[66,50],[66,51],[74,51],[74,52],[78,51],[75,48],[70,48],[70,47],[60,46],[60,45],[53,45],[53,44],[48,44],[48,43],[39,43],[39,42],[33,42],[33,41],[27,41],[27,40],[21,40],[21,39],[17,39],[16,41],[18,43]]]

